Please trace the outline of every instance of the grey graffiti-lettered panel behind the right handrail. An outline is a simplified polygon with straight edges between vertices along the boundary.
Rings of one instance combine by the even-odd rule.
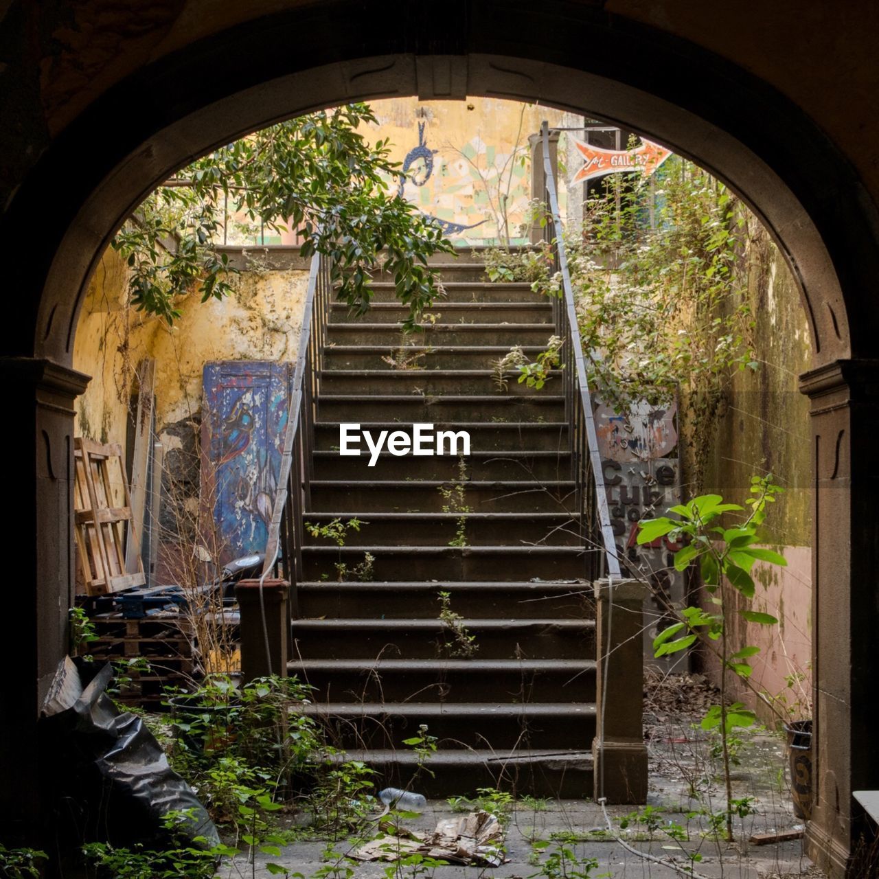
[[[683,654],[653,658],[652,641],[672,621],[665,604],[682,606],[684,575],[674,570],[672,555],[679,547],[667,537],[638,545],[638,522],[665,515],[680,503],[677,405],[633,404],[623,414],[599,403],[595,426],[604,469],[607,506],[617,553],[651,586],[644,602],[644,655],[652,665],[672,667],[686,662]]]

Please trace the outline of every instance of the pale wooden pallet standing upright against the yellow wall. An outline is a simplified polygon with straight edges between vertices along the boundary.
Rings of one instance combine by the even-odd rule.
[[[106,595],[146,583],[140,556],[126,567],[123,535],[134,534],[128,483],[117,443],[101,445],[91,439],[74,439],[74,521],[76,548],[87,595]],[[123,506],[113,505],[111,468],[118,469]],[[136,537],[134,538],[136,540]]]

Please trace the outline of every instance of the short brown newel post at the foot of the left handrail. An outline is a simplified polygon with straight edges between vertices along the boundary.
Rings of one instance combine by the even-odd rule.
[[[241,608],[241,672],[244,682],[270,674],[286,678],[290,640],[290,584],[287,580],[265,578],[262,607],[258,579],[242,580],[235,587],[235,595]],[[265,652],[266,636],[271,662]]]

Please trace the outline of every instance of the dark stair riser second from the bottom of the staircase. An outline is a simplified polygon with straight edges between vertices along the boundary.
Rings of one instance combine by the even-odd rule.
[[[443,748],[588,748],[595,737],[593,716],[558,714],[543,716],[527,724],[511,721],[506,714],[492,716],[442,715],[419,719],[418,716],[367,716],[343,720],[326,718],[331,742],[342,748],[404,748],[404,738],[418,734],[420,723],[427,723],[432,736]]]

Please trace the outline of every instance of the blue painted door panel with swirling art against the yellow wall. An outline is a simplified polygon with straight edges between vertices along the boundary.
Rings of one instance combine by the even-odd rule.
[[[202,533],[220,564],[265,549],[292,375],[292,364],[259,360],[204,367]]]

